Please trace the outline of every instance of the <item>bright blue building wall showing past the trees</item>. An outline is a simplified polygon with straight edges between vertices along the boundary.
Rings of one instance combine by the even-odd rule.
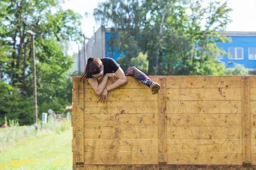
[[[116,34],[114,34],[116,36]],[[116,49],[111,52],[108,41],[110,41],[111,33],[105,33],[105,44],[106,44],[106,57],[111,57],[113,59],[117,59],[121,54],[119,54]],[[224,51],[228,52],[228,48],[243,48],[243,59],[231,59],[226,55],[223,56],[221,61],[226,63],[226,67],[233,67],[235,63],[243,64],[246,68],[256,68],[256,59],[248,59],[248,48],[256,48],[256,37],[241,37],[241,36],[227,36],[231,37],[232,42],[217,42],[217,46],[223,48]],[[232,63],[232,64],[230,64]]]

